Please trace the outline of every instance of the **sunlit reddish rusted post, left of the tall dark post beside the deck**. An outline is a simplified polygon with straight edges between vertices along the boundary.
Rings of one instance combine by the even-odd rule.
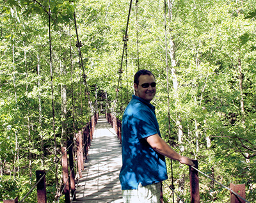
[[[65,195],[65,203],[70,203],[70,197],[69,197],[70,189],[69,189],[69,182],[68,182],[67,147],[61,147],[61,153],[63,154],[63,156],[61,157],[63,184],[64,184],[63,193]]]

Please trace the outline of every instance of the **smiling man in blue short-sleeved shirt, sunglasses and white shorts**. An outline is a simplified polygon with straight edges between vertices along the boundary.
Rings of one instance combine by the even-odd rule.
[[[164,156],[194,165],[161,139],[155,107],[156,79],[148,70],[134,75],[132,100],[122,119],[122,169],[120,183],[124,203],[158,203],[161,181],[168,178]]]

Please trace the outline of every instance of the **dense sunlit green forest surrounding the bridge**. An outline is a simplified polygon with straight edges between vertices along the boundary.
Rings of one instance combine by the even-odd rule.
[[[93,114],[122,120],[134,73],[147,69],[156,76],[152,104],[164,140],[221,184],[244,183],[255,202],[255,5],[1,0],[0,201],[24,197],[35,171],[49,169]],[[189,202],[188,167],[167,164]],[[49,202],[61,184],[57,165],[47,177]],[[230,193],[200,176],[200,201],[229,202]],[[36,191],[26,202],[36,202]]]

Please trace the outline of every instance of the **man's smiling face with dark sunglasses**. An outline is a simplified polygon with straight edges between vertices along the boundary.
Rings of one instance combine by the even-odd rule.
[[[156,82],[153,75],[141,75],[139,77],[139,84],[134,84],[135,95],[150,102],[154,96],[156,95],[156,86],[155,87],[143,87],[143,84],[152,84],[152,82]],[[143,86],[141,86],[143,85]]]

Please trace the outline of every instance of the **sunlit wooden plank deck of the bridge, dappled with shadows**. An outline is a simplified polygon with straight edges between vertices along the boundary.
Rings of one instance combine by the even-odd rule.
[[[83,178],[79,179],[72,202],[122,203],[118,179],[122,166],[121,144],[106,118],[100,117],[93,134]]]

